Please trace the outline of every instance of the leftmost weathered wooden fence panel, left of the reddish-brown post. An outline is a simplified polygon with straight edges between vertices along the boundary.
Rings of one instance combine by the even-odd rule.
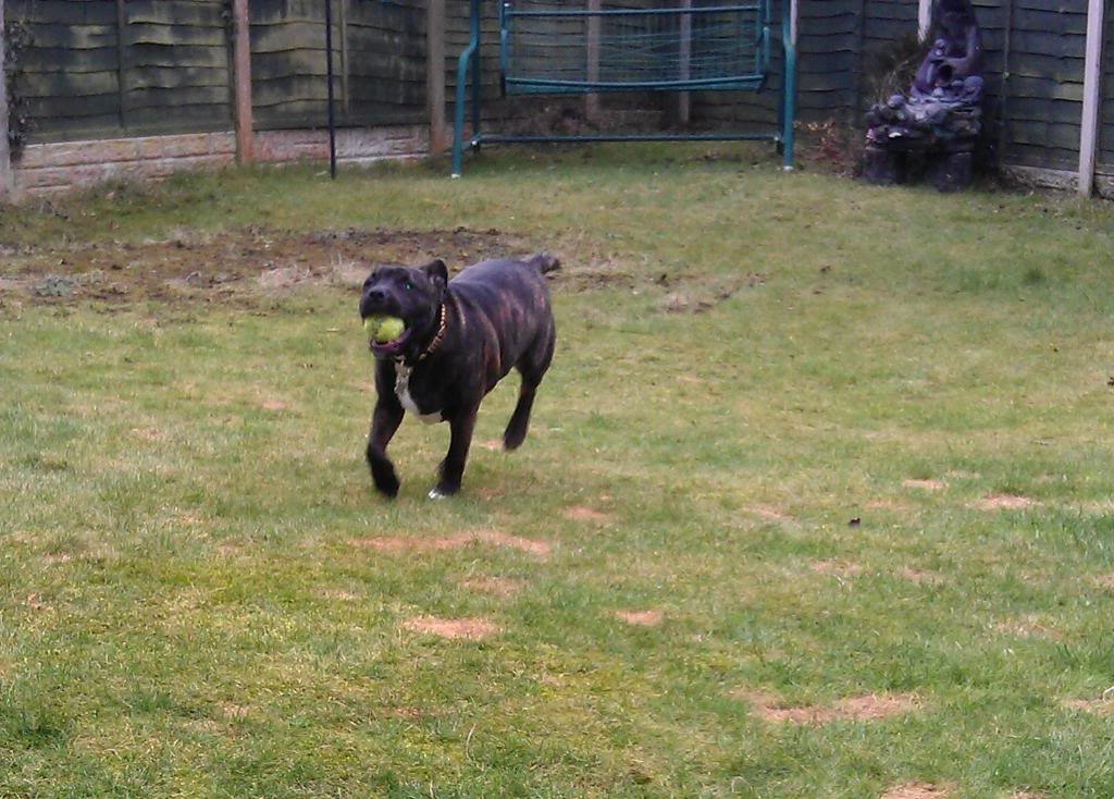
[[[227,127],[223,10],[223,0],[11,0],[9,21],[29,35],[14,76],[28,140]]]

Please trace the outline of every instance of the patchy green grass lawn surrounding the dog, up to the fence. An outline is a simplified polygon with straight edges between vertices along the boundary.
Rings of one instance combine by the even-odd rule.
[[[1114,796],[1114,208],[751,153],[3,210],[0,797]],[[352,231],[565,263],[452,500],[413,420],[371,488],[358,290],[251,277]],[[166,241],[251,274],[35,296]]]

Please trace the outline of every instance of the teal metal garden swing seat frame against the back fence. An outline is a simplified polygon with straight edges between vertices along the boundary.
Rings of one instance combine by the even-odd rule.
[[[512,91],[517,86],[528,87],[526,90],[535,90],[538,94],[587,94],[595,91],[631,91],[631,90],[673,90],[683,91],[686,89],[752,89],[760,90],[765,82],[765,72],[770,65],[770,6],[768,2],[746,3],[734,6],[697,7],[688,9],[685,13],[706,13],[723,11],[758,11],[762,12],[762,25],[759,45],[759,64],[762,71],[752,75],[732,76],[730,79],[710,78],[697,80],[657,80],[644,81],[641,84],[624,84],[617,81],[580,81],[580,80],[558,80],[544,78],[514,78],[508,77],[509,72],[509,37],[510,22],[514,17],[588,17],[593,14],[604,16],[635,16],[635,14],[673,14],[678,13],[677,9],[612,9],[607,11],[588,11],[583,9],[568,9],[555,11],[514,11],[509,0],[496,0],[499,3],[499,71],[502,81],[504,92]],[[792,21],[790,19],[790,0],[784,0],[784,12],[782,14],[782,48],[784,50],[784,77],[782,80],[781,103],[779,104],[779,124],[772,133],[724,133],[724,134],[589,134],[579,136],[514,136],[500,134],[483,134],[480,130],[481,123],[481,74],[480,74],[480,16],[482,0],[470,0],[471,3],[471,40],[465,51],[460,53],[457,62],[457,100],[455,108],[455,128],[452,136],[452,176],[460,177],[463,169],[465,149],[465,105],[468,91],[468,68],[472,68],[472,135],[468,139],[468,147],[479,149],[480,145],[488,144],[534,144],[534,143],[566,143],[566,142],[749,142],[770,140],[775,143],[782,150],[783,167],[793,168],[793,123],[797,116],[797,43],[792,41]]]

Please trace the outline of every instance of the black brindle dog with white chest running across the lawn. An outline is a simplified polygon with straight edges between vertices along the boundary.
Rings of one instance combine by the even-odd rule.
[[[557,330],[543,275],[557,267],[557,260],[543,253],[525,262],[483,261],[451,282],[440,260],[371,273],[360,316],[387,314],[405,323],[394,341],[371,343],[379,398],[368,466],[375,488],[389,497],[399,493],[387,445],[409,410],[426,422],[449,422],[452,432],[430,498],[460,490],[480,401],[511,368],[518,369],[522,386],[502,442],[506,449],[522,442],[534,394],[554,354]]]

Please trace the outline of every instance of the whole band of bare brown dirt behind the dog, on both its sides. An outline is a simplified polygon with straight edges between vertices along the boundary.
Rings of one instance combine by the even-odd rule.
[[[567,246],[575,250],[576,243]],[[486,259],[525,256],[544,249],[506,231],[469,227],[302,232],[250,226],[222,232],[179,230],[141,242],[0,244],[0,308],[6,303],[21,308],[25,303],[96,301],[123,306],[156,301],[254,309],[311,286],[355,291],[382,263],[419,264],[440,257],[456,272]],[[566,293],[622,286],[636,293],[668,294],[668,310],[694,313],[765,280],[761,274],[671,275],[656,269],[648,259],[623,263],[588,255],[570,260],[549,277]]]

